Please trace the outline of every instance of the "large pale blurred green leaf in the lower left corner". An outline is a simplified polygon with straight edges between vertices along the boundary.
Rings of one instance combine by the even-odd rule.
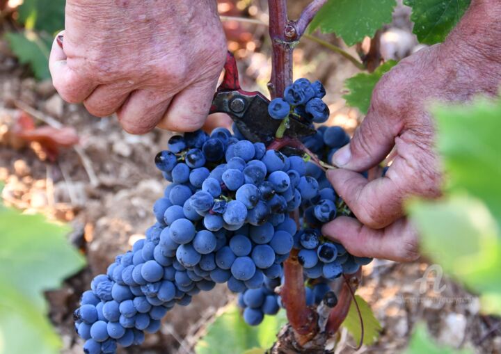
[[[57,354],[61,340],[47,319],[44,291],[84,266],[65,239],[68,227],[0,204],[0,354]]]

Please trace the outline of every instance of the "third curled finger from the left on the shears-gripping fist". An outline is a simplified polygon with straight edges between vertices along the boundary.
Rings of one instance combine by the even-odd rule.
[[[130,134],[148,133],[164,117],[171,99],[166,92],[136,90],[118,109],[118,120]]]

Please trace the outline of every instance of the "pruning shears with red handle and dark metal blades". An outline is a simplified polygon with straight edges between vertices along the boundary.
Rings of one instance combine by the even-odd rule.
[[[269,115],[269,99],[261,92],[241,89],[237,63],[230,52],[226,56],[224,69],[223,82],[214,95],[209,114],[227,113],[246,139],[269,145],[275,139],[276,131],[282,122]],[[289,116],[289,127],[285,130],[285,136],[303,138],[315,133],[315,129],[308,122],[301,122],[299,118]]]

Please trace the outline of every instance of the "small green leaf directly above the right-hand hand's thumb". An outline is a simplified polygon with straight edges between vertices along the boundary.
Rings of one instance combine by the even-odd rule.
[[[397,65],[396,61],[387,61],[371,74],[361,72],[344,81],[344,86],[349,90],[349,93],[343,96],[347,100],[347,104],[357,107],[360,112],[367,114],[374,86],[376,86],[383,74],[390,71],[395,65]]]

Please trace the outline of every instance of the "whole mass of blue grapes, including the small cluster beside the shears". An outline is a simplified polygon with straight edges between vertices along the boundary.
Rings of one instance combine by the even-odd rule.
[[[324,94],[319,81],[300,79],[286,88],[284,99],[271,102],[270,114],[325,121]],[[244,320],[258,325],[283,305],[283,264],[292,250],[312,307],[333,307],[329,282],[370,262],[321,235],[321,225],[350,212],[310,156],[287,156],[246,140],[235,125],[232,130],[173,136],[168,150],[155,157],[170,182],[154,203],[157,222],[93,279],[74,312],[85,353],[141,344],[145,332],[159,330],[168,310],[189,305],[216,283],[239,293]],[[340,127],[319,127],[302,144],[327,162],[348,142]]]

